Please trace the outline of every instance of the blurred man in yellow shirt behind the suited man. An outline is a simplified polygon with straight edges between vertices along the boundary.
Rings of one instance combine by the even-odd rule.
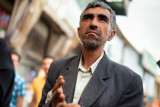
[[[30,107],[38,107],[38,104],[39,104],[39,102],[41,100],[41,96],[42,96],[42,88],[43,88],[45,81],[46,81],[46,78],[47,78],[48,69],[49,69],[49,66],[53,60],[54,60],[54,58],[52,58],[50,56],[46,56],[42,60],[40,71],[45,72],[45,76],[44,77],[36,77],[33,80],[32,87],[31,87],[31,90],[33,91],[33,98],[32,98],[32,102],[30,104]]]

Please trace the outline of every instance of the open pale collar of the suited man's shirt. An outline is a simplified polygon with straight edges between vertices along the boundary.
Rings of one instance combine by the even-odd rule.
[[[79,62],[79,66],[78,66],[78,69],[80,69],[81,71],[83,72],[88,72],[88,71],[91,71],[91,73],[93,74],[95,69],[97,68],[100,60],[102,59],[104,55],[104,52],[102,52],[101,56],[88,68],[88,69],[85,69],[83,66],[82,66],[82,54],[81,54],[81,58],[80,58],[80,62]]]

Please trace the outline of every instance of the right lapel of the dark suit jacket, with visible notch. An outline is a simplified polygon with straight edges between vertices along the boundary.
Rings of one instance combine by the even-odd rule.
[[[80,104],[90,107],[102,92],[107,88],[107,83],[104,80],[110,77],[109,74],[109,59],[104,54],[95,72],[92,75],[88,85],[81,95]]]

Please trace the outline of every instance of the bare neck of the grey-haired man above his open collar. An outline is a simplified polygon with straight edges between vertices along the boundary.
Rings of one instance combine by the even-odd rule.
[[[82,66],[88,69],[101,55],[104,46],[98,48],[97,50],[88,50],[85,47],[82,48]]]

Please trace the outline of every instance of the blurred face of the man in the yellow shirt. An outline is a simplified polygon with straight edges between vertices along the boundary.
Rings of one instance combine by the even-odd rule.
[[[45,71],[46,74],[48,74],[48,69],[50,67],[50,64],[52,63],[52,58],[45,58],[42,61],[42,69]]]

